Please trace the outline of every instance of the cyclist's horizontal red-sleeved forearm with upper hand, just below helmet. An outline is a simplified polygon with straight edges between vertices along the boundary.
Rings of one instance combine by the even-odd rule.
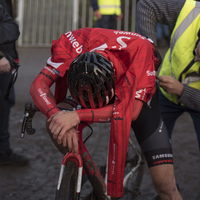
[[[132,121],[137,119],[142,105],[142,101],[135,99]],[[76,127],[80,121],[87,123],[107,123],[111,122],[112,116],[113,104],[110,104],[98,109],[80,109],[71,112],[61,111],[52,115],[47,122],[51,123],[49,128],[53,130],[55,137],[62,138],[66,131]],[[54,126],[55,124],[57,125]]]

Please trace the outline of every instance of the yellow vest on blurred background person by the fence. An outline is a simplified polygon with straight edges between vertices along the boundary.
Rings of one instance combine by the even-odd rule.
[[[121,0],[98,0],[98,6],[102,15],[121,14]]]

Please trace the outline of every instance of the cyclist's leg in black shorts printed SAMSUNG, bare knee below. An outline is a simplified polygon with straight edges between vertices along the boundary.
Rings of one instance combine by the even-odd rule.
[[[182,199],[175,183],[172,149],[161,119],[157,93],[151,108],[143,105],[132,128],[146,158],[154,187],[161,199]]]

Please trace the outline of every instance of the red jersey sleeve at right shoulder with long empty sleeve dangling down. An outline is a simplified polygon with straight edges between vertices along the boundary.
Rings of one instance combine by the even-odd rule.
[[[129,54],[121,59],[126,69],[124,76],[120,76],[120,65],[113,63],[118,79],[110,130],[107,185],[107,194],[113,197],[123,196],[124,168],[136,98],[148,102],[156,84],[153,46],[147,40],[138,40],[130,48]]]

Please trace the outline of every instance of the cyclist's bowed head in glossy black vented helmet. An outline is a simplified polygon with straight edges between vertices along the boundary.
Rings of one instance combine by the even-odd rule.
[[[68,71],[68,86],[72,97],[85,108],[101,108],[115,94],[111,63],[97,52],[78,56]]]

